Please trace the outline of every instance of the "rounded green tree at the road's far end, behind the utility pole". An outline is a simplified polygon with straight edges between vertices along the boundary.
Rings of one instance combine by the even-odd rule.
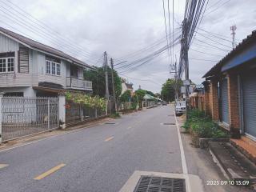
[[[178,80],[177,89],[178,95],[180,94],[180,88],[182,86],[182,80]],[[162,85],[161,95],[163,100],[172,102],[175,99],[175,79],[168,78]]]

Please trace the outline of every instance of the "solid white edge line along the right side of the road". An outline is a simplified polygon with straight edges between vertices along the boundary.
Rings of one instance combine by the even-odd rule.
[[[178,121],[176,118],[176,114],[174,114],[175,117],[175,122],[176,122],[176,127],[177,127],[177,132],[178,132],[178,143],[179,143],[179,149],[181,151],[181,158],[182,158],[182,170],[183,170],[183,174],[186,175],[186,181],[187,181],[187,186],[188,186],[188,192],[191,191],[191,187],[190,187],[190,178],[188,177],[188,171],[187,171],[187,166],[186,166],[186,157],[185,157],[185,153],[184,153],[184,148],[182,145],[182,136],[181,136],[181,132],[179,129],[179,125],[178,125]]]

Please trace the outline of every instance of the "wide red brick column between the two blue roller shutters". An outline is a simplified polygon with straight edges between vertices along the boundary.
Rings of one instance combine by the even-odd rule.
[[[227,75],[227,93],[230,112],[230,134],[232,138],[240,138],[238,75]]]

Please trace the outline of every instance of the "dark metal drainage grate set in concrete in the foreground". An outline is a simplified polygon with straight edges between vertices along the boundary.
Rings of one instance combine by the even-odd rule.
[[[142,176],[134,192],[186,192],[185,179]]]

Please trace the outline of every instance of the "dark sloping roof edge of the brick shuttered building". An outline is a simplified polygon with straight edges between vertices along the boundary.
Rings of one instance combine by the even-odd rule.
[[[233,58],[234,55],[238,54],[239,51],[245,49],[246,46],[248,46],[249,44],[253,42],[255,43],[255,41],[256,41],[256,30],[252,31],[252,33],[248,35],[247,38],[244,38],[242,42],[240,42],[238,46],[234,48],[234,50],[231,50],[229,54],[226,54],[226,56],[222,58],[222,60],[220,60],[215,66],[213,66],[206,74],[204,74],[202,78],[210,77],[215,73],[218,73],[221,70],[222,66],[228,60],[230,60],[230,58]]]

